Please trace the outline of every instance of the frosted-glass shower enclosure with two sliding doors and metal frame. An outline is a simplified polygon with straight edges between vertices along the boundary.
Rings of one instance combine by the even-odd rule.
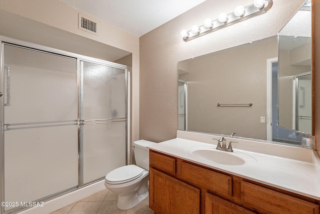
[[[20,43],[1,42],[1,201],[47,200],[127,164],[126,66]]]

